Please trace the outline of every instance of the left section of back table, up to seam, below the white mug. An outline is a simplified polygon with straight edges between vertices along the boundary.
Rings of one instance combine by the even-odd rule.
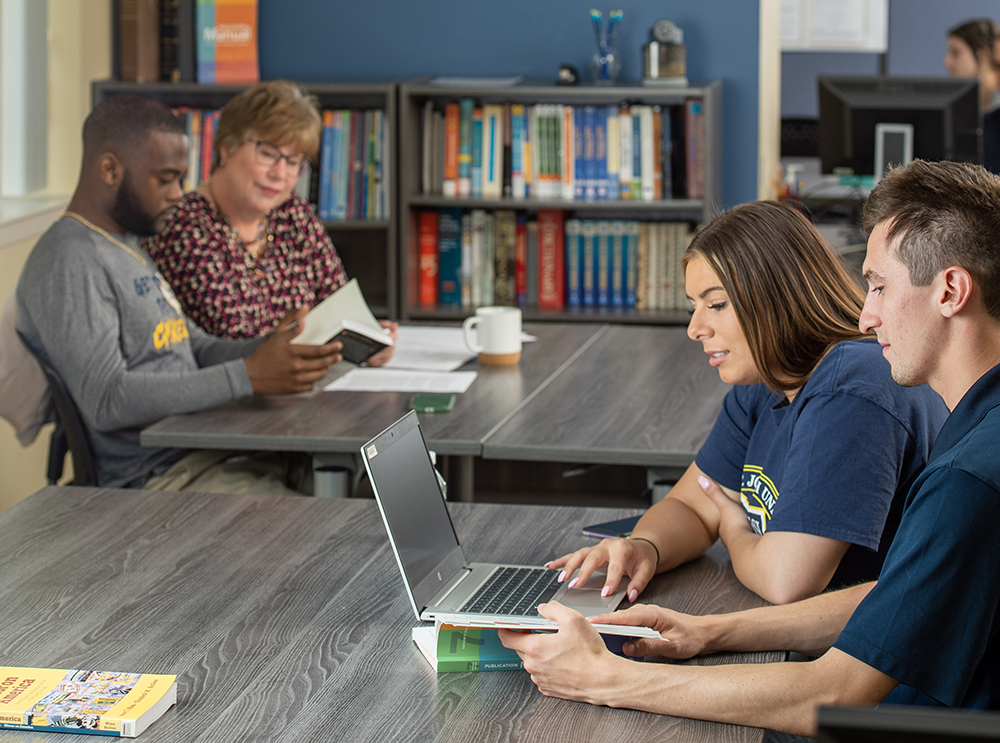
[[[524,344],[510,367],[465,368],[479,376],[443,415],[420,415],[431,449],[479,455],[481,442],[541,384],[604,332],[596,324],[525,325],[538,340]],[[402,392],[321,392],[235,400],[190,415],[172,415],[142,432],[144,446],[188,449],[342,452],[356,454],[373,436],[407,411]]]

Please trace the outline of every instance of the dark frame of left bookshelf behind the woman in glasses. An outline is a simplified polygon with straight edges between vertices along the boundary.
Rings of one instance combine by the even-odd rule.
[[[396,161],[396,86],[392,83],[330,82],[300,83],[319,100],[321,110],[326,109],[382,109],[388,129],[388,168],[383,174],[388,178],[388,219],[324,220],[323,224],[337,253],[344,263],[347,275],[357,278],[372,312],[378,317],[399,317],[397,298],[397,205],[398,192],[395,179]],[[129,83],[112,80],[93,83],[92,104],[115,95],[142,95],[155,98],[168,106],[188,106],[202,109],[219,109],[243,85],[203,85],[197,83]],[[315,206],[315,204],[314,204]]]

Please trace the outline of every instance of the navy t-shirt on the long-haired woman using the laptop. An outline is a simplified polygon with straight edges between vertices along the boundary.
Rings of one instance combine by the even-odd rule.
[[[877,342],[844,341],[791,403],[764,384],[730,390],[695,462],[740,492],[756,533],[849,542],[830,581],[839,587],[878,577],[894,496],[901,507],[947,416],[927,385],[892,381]]]

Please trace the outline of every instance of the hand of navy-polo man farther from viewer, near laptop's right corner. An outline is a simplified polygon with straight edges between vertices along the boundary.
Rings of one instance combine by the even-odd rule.
[[[625,611],[615,611],[591,617],[594,624],[621,624],[631,627],[652,627],[662,640],[637,638],[625,643],[626,655],[645,658],[662,655],[664,658],[684,660],[710,652],[709,637],[703,618],[681,614],[660,606],[636,604]]]

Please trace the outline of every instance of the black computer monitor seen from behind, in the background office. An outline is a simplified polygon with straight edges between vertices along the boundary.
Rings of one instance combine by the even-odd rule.
[[[880,137],[885,162],[910,145],[917,160],[981,163],[979,81],[953,77],[819,78],[819,156],[824,173],[872,175]],[[907,141],[908,139],[908,141]]]

